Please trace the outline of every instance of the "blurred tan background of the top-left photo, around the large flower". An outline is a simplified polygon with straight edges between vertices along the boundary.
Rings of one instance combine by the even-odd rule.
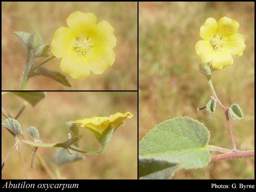
[[[43,64],[66,75],[72,87],[65,87],[42,75],[28,80],[25,90],[137,90],[137,2],[1,2],[1,81],[2,90],[17,90],[24,70],[26,48],[14,31],[31,33],[37,29],[44,44],[51,43],[57,28],[67,26],[74,11],[92,12],[97,22],[106,20],[117,39],[116,59],[102,74],[73,79],[62,72],[61,58]],[[51,51],[48,52],[52,56]],[[46,60],[37,58],[37,63]]]

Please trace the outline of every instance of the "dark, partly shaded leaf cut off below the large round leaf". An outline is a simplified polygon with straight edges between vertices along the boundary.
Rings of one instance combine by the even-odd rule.
[[[154,158],[139,158],[139,179],[170,179],[180,163],[157,160]]]

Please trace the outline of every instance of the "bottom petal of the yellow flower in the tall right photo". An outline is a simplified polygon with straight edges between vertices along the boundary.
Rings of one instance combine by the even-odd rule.
[[[211,65],[216,69],[221,69],[224,66],[233,64],[232,55],[226,50],[216,51],[212,55]]]

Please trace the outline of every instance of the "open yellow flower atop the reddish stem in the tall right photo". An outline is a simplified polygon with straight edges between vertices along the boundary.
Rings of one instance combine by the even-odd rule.
[[[199,40],[195,44],[196,53],[203,62],[210,62],[216,69],[233,64],[234,56],[241,56],[245,49],[244,37],[236,33],[239,23],[226,16],[218,22],[213,17],[207,18],[200,27]],[[232,54],[232,55],[231,55]]]

